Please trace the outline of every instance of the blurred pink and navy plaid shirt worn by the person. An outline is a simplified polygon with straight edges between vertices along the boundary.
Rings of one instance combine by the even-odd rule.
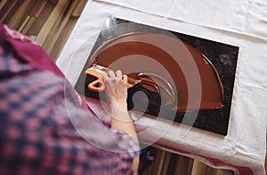
[[[66,80],[0,47],[0,174],[133,174],[138,150],[82,109]]]

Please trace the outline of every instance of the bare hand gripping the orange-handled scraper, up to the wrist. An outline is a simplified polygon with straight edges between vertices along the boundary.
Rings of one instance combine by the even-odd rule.
[[[116,108],[122,111],[127,110],[127,76],[121,71],[108,71],[103,75],[103,82],[106,87],[107,102],[111,110]]]

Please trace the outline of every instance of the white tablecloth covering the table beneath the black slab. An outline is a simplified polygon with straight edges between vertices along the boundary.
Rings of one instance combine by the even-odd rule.
[[[262,175],[265,174],[267,123],[266,9],[266,2],[260,0],[88,1],[57,65],[75,85],[107,16],[239,46],[227,136],[159,121],[149,115],[137,117],[135,126],[142,133],[138,137],[143,141],[157,139],[158,146],[198,158],[213,167],[216,164],[205,157],[249,167]],[[96,100],[90,104],[101,109]],[[239,174],[231,165],[218,168]]]

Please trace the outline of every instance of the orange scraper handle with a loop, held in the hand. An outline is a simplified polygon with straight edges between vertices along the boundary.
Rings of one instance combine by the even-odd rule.
[[[105,90],[105,84],[103,83],[103,74],[100,71],[95,71],[89,68],[85,71],[85,73],[96,78],[96,80],[88,84],[89,90],[92,90],[93,92],[102,92]],[[134,85],[128,83],[127,88],[131,87],[134,87]]]

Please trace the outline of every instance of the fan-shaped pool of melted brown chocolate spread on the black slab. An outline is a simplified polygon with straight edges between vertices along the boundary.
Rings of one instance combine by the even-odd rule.
[[[127,34],[102,45],[94,58],[99,65],[124,73],[152,72],[164,77],[174,86],[178,96],[174,110],[179,112],[223,108],[223,85],[212,63],[176,38]]]

